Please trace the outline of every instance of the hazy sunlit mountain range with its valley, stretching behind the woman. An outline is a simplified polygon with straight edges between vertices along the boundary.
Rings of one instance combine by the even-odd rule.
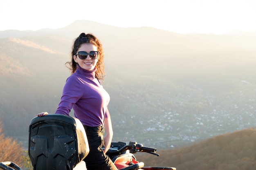
[[[27,146],[30,120],[55,112],[81,32],[103,43],[114,141],[161,149],[255,127],[254,33],[179,34],[78,20],[60,29],[0,31],[6,136]]]

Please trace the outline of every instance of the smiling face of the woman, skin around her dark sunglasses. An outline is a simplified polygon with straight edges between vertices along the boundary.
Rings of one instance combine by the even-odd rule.
[[[90,51],[97,51],[97,47],[90,43],[81,44],[78,51],[85,51],[87,53],[90,53]],[[94,68],[98,62],[98,59],[99,59],[99,57],[98,57],[97,59],[93,60],[90,58],[89,55],[84,60],[81,60],[78,57],[78,55],[74,55],[73,58],[74,58],[75,62],[79,64],[79,66],[81,68],[88,70],[88,71],[94,70]]]

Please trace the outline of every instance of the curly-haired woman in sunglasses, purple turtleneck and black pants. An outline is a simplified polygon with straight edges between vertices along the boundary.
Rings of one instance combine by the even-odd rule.
[[[72,47],[70,70],[55,114],[69,115],[73,108],[86,131],[90,152],[84,161],[88,170],[117,170],[105,154],[113,137],[108,111],[110,96],[99,80],[104,77],[104,53],[101,42],[92,34],[81,33]],[[47,112],[38,116],[47,115]],[[103,127],[104,126],[104,127]],[[103,138],[104,130],[106,135]],[[101,146],[105,146],[104,150]]]

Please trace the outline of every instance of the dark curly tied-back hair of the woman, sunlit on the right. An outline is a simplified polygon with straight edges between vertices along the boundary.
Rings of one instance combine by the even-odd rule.
[[[78,38],[74,40],[74,44],[72,46],[72,52],[71,52],[71,62],[67,62],[65,65],[70,69],[71,73],[76,72],[77,63],[74,61],[73,56],[76,55],[78,49],[80,48],[81,44],[90,43],[97,47],[97,50],[99,51],[99,59],[96,64],[97,71],[95,71],[95,77],[97,79],[102,79],[105,76],[104,72],[104,51],[103,46],[100,42],[100,40],[94,36],[92,33],[81,33]]]

